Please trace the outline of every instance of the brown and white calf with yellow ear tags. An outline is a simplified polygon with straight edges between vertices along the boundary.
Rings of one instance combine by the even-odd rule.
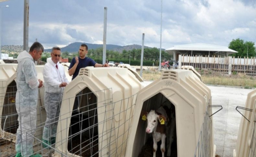
[[[146,133],[153,135],[153,157],[156,157],[157,142],[161,140],[162,157],[165,153],[165,138],[168,124],[168,116],[163,106],[159,107],[157,111],[151,110],[149,113],[142,111],[142,118],[147,119]],[[159,122],[158,122],[159,120]],[[168,148],[169,149],[169,148]]]

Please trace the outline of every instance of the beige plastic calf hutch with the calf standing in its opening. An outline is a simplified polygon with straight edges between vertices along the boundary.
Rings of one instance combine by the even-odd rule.
[[[165,123],[165,156],[214,157],[210,105],[210,89],[192,70],[163,71],[157,81],[137,95],[125,156],[153,156],[152,133],[146,133],[150,132],[149,124],[142,117],[145,112],[157,111],[162,106],[169,117],[169,122],[167,119]],[[157,125],[161,125],[160,122]],[[158,142],[156,156],[162,155],[160,144],[161,141]]]

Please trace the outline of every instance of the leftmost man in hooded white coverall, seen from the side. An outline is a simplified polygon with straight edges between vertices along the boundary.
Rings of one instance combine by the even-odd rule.
[[[42,81],[37,78],[34,61],[41,58],[43,46],[34,42],[29,53],[24,50],[17,56],[17,93],[15,106],[18,113],[19,126],[16,134],[16,157],[41,157],[33,154],[32,135],[36,129],[36,107],[38,101],[38,88],[42,87]]]

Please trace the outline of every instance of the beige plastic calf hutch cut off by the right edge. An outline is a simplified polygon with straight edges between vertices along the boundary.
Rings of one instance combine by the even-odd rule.
[[[233,151],[234,157],[248,156],[250,146],[251,145],[255,146],[255,143],[256,143],[255,140],[253,141],[254,143],[251,143],[253,128],[255,125],[255,123],[253,122],[254,117],[255,117],[255,112],[256,112],[255,105],[256,105],[256,89],[251,91],[247,95],[247,99],[245,102],[245,108],[252,109],[252,112],[244,110],[242,112],[242,114],[246,118],[248,118],[250,120],[250,122],[248,120],[246,120],[244,117],[241,117],[236,149]]]

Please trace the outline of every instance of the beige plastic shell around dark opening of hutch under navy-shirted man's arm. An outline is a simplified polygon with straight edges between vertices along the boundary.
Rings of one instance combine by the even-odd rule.
[[[117,131],[119,130],[120,132],[124,132],[124,130],[127,130],[129,126],[128,123],[119,126],[119,124],[122,124],[125,120],[127,120],[125,115],[126,112],[122,111],[125,110],[125,108],[130,107],[132,104],[134,104],[135,98],[133,100],[134,102],[120,100],[136,94],[139,90],[143,88],[143,85],[127,68],[118,67],[82,68],[80,69],[79,75],[65,87],[56,135],[56,143],[62,143],[62,145],[58,145],[56,149],[64,154],[67,154],[67,156],[77,156],[68,152],[67,140],[63,139],[68,138],[71,120],[70,117],[72,114],[71,111],[74,106],[75,96],[78,92],[82,91],[85,88],[89,88],[89,90],[92,91],[93,94],[97,97],[98,115],[100,115],[101,113],[105,113],[104,115],[106,115],[98,116],[98,121],[102,122],[98,124],[98,141],[100,149],[99,156],[109,156],[108,154],[111,154],[111,151],[117,151],[118,154],[121,153],[121,149],[125,150],[126,147],[126,143],[123,143],[122,141],[126,140],[127,132],[120,137],[116,137],[118,135]],[[122,103],[121,108],[112,108],[111,105],[108,105],[105,109],[106,104],[111,104],[112,102],[117,101],[120,101]],[[131,114],[133,114],[133,111],[131,112]],[[104,121],[104,118],[111,119],[113,117],[113,114],[118,116],[114,117],[114,126],[112,126],[113,130],[107,131],[110,130],[109,127],[111,126],[111,121],[106,122]],[[111,139],[109,137],[111,137]],[[109,140],[113,142],[109,144]],[[55,151],[54,155],[61,154]],[[124,156],[124,151],[122,151],[122,156]]]

